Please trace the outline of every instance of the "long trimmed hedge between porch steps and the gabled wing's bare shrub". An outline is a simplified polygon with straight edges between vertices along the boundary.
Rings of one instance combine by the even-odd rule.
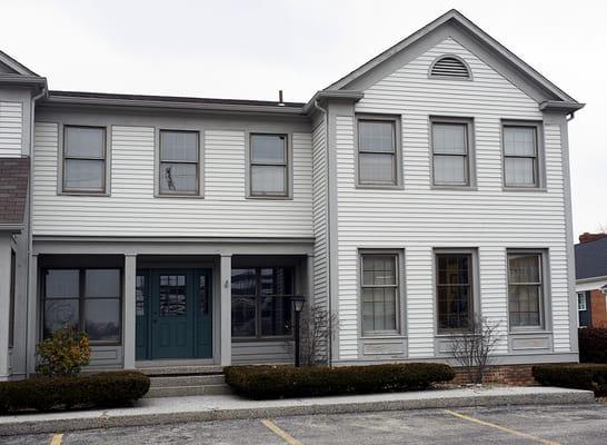
[[[395,393],[425,389],[455,377],[450,366],[437,363],[335,368],[229,366],[223,372],[237,394],[253,399]]]

